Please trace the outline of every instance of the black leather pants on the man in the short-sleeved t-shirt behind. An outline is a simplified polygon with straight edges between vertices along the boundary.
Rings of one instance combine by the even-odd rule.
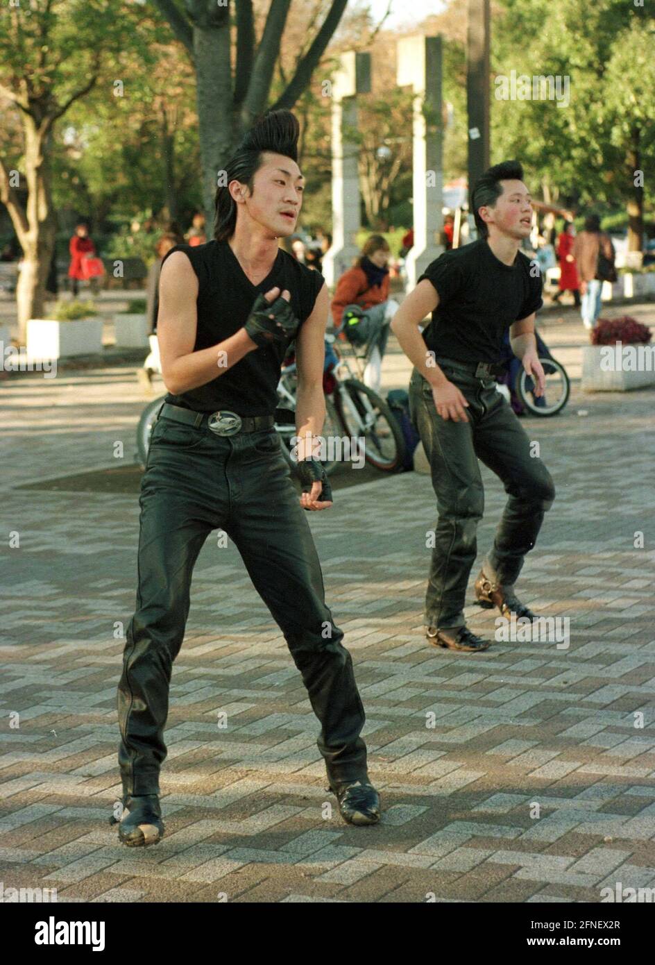
[[[485,574],[512,588],[534,545],[544,512],[555,499],[550,473],[531,455],[529,436],[495,379],[454,371],[437,359],[469,403],[469,422],[442,419],[432,388],[416,369],[410,380],[410,410],[430,461],[437,497],[438,522],[425,595],[425,622],[430,626],[464,626],[464,603],[471,568],[478,553],[478,522],[484,489],[478,459],[505,485],[508,495],[494,544],[482,566]]]

